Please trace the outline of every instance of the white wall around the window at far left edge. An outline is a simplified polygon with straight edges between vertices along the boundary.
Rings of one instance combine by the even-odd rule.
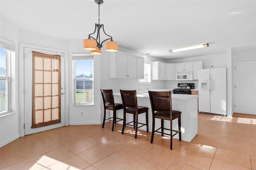
[[[18,27],[6,20],[0,20],[0,35],[3,38],[15,42],[15,57],[11,58],[11,98],[12,111],[14,114],[0,118],[0,147],[18,138],[19,135],[19,110],[18,110]]]

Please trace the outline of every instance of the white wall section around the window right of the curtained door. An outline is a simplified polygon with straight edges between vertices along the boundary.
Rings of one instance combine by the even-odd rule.
[[[102,49],[103,51],[103,49]],[[101,124],[101,112],[100,112],[100,65],[101,58],[103,56],[94,55],[94,105],[90,106],[74,106],[72,105],[72,94],[73,94],[73,82],[72,82],[72,53],[90,53],[83,49],[82,40],[70,40],[69,41],[69,113],[70,113],[70,125],[90,125],[90,124]],[[83,111],[83,115],[80,112]]]

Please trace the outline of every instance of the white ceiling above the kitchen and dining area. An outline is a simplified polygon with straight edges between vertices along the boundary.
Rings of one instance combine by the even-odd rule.
[[[82,43],[98,23],[98,5],[94,0],[0,0],[0,15],[19,28]],[[211,55],[256,45],[256,1],[105,0],[100,24],[119,46],[139,53],[162,59]],[[199,43],[210,46],[169,53]]]

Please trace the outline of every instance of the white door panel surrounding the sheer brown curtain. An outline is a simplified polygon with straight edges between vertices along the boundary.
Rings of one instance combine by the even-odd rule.
[[[32,126],[32,51],[49,55],[61,55],[61,117],[60,123],[44,127],[31,128]],[[65,58],[63,53],[24,47],[24,134],[42,132],[52,128],[65,126]]]

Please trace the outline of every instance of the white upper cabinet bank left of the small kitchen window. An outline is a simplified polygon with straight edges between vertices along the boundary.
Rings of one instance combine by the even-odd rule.
[[[144,59],[140,58],[138,65],[143,62],[143,76],[144,77]],[[127,55],[120,52],[109,53],[109,66],[110,66],[110,78],[119,79],[137,79],[137,57]],[[142,74],[141,70],[138,71]],[[141,76],[141,75],[140,75]],[[141,79],[141,78],[140,78]],[[142,78],[143,79],[143,78]]]

